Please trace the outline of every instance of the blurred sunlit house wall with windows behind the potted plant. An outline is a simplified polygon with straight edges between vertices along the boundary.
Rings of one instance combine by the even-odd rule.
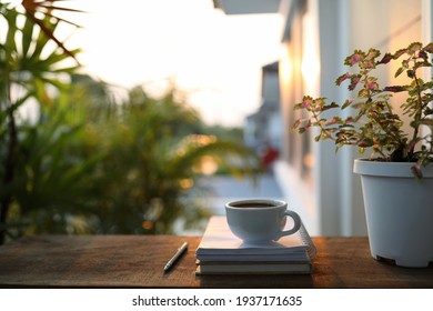
[[[302,100],[303,94],[326,97],[336,102],[343,102],[350,96],[344,87],[336,87],[334,81],[348,71],[343,61],[354,49],[372,47],[393,52],[410,42],[422,40],[421,0],[289,2],[295,12],[288,14],[291,16],[291,20],[288,20],[291,24],[286,27],[290,31],[284,40],[286,56],[283,56],[285,61],[281,62],[280,68],[286,128],[300,117],[292,108]],[[298,3],[298,8],[293,3]],[[319,43],[309,38],[318,38]],[[315,86],[314,79],[306,79],[302,74],[302,61],[312,50],[320,59]],[[386,82],[393,77],[393,71],[384,71],[380,79]],[[284,162],[278,165],[275,173],[280,184],[286,188],[288,200],[295,202],[314,233],[366,234],[361,184],[359,177],[352,172],[353,159],[359,157],[356,150],[341,149],[335,154],[332,142],[313,143],[312,136],[314,133],[310,137],[304,134],[303,138],[286,134]],[[308,167],[308,163],[312,167]]]

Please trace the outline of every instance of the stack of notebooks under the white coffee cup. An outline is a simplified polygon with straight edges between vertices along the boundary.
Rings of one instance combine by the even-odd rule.
[[[195,251],[197,274],[311,273],[315,252],[303,225],[276,242],[244,243],[230,231],[225,217],[212,217]]]

